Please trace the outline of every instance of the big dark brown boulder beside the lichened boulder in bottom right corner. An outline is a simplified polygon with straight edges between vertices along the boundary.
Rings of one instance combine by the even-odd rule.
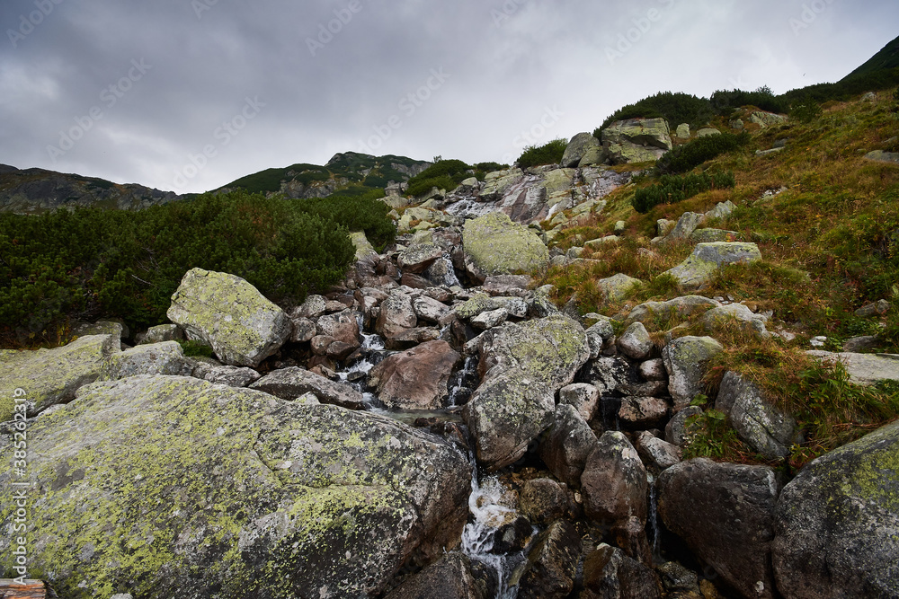
[[[774,597],[770,546],[779,484],[767,466],[697,458],[663,471],[659,515],[744,597]]]

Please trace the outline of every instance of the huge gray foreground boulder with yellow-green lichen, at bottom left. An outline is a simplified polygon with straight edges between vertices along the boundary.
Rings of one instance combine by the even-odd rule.
[[[29,450],[28,566],[70,597],[378,595],[458,545],[471,489],[465,455],[390,418],[172,376],[82,388]]]

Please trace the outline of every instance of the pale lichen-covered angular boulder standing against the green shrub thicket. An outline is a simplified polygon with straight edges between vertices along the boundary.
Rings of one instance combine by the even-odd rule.
[[[192,269],[166,313],[228,366],[254,368],[289,339],[290,319],[241,277]]]

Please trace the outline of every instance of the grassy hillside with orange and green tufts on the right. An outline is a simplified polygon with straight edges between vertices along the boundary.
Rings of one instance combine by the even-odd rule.
[[[841,445],[899,416],[899,385],[864,389],[845,373],[818,366],[807,357],[808,339],[827,337],[826,349],[840,350],[846,339],[877,335],[881,351],[899,353],[899,164],[866,159],[872,150],[899,151],[899,92],[880,92],[876,101],[831,101],[820,117],[791,120],[774,128],[752,128],[748,145],[702,163],[693,174],[733,172],[732,189],[702,191],[677,203],[661,204],[645,214],[632,201],[639,189],[660,183],[646,174],[636,185],[616,190],[609,206],[591,222],[557,239],[563,250],[611,233],[616,221],[627,224],[623,241],[591,251],[599,260],[587,267],[551,269],[543,283],[556,286],[556,301],[572,298],[582,313],[626,313],[648,300],[667,300],[686,292],[664,271],[692,251],[687,242],[653,244],[656,221],[676,220],[685,212],[706,212],[719,202],[736,205],[733,216],[712,223],[734,231],[739,241],[756,242],[763,261],[722,271],[702,295],[744,302],[770,311],[769,330],[792,332],[797,339],[755,339],[736,327],[714,331],[727,351],[708,377],[708,396],[727,370],[736,370],[768,390],[808,431],[795,448],[794,466]],[[713,124],[726,128],[724,119]],[[786,140],[779,154],[757,155]],[[597,280],[617,273],[640,278],[628,299],[608,303]],[[862,318],[859,307],[885,299],[884,318]],[[682,325],[675,336],[706,335],[699,322],[657,322],[650,332],[663,344],[663,333]],[[708,420],[708,418],[707,418]],[[724,427],[706,423],[696,454],[754,461]],[[704,425],[704,426],[706,426]]]

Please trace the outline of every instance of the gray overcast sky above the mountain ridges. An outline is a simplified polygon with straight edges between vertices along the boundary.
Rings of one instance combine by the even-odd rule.
[[[205,191],[337,152],[512,162],[659,91],[841,79],[895,0],[2,0],[0,163]]]

